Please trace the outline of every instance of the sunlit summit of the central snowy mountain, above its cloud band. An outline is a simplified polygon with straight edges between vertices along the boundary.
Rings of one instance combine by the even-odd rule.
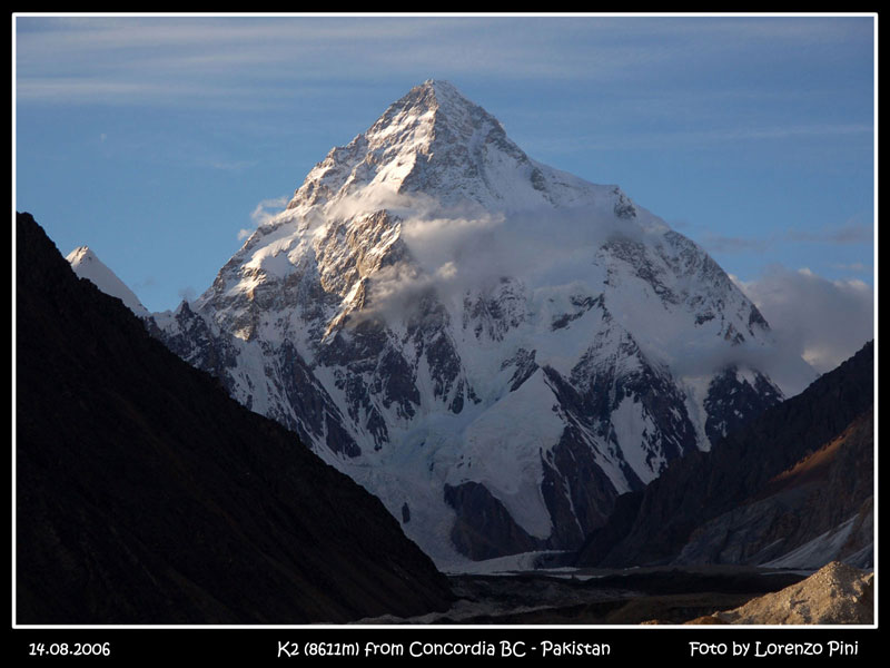
[[[305,214],[367,189],[486,210],[583,205],[621,209],[627,218],[635,210],[615,186],[595,186],[531,159],[494,116],[433,79],[393,102],[348,145],[332,149],[288,209]]]

